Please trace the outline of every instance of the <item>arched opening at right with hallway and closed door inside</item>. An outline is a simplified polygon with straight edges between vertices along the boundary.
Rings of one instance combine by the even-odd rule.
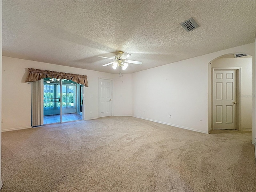
[[[234,128],[236,130],[252,131],[252,56],[246,54],[223,55],[212,60],[208,66],[208,132],[214,129]],[[222,70],[227,72],[222,73]],[[235,70],[235,73],[228,72],[230,70]],[[234,80],[231,80],[231,76]],[[214,82],[214,78],[223,78],[223,81]],[[236,92],[233,92],[232,84],[236,84]],[[230,88],[229,93],[227,93],[229,91],[227,88]],[[214,89],[219,89],[219,92]],[[223,95],[224,92],[226,92],[226,95]],[[221,97],[227,99],[227,102],[230,103],[224,105],[215,103],[215,100],[220,100]],[[231,118],[231,116],[234,116],[234,118]],[[221,124],[224,120],[231,127],[216,127],[216,122]],[[231,124],[235,126],[232,127]]]

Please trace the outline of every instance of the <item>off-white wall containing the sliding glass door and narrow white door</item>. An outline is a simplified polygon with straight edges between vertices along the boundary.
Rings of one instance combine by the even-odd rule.
[[[120,78],[118,74],[108,74],[3,56],[2,130],[31,127],[31,84],[25,83],[28,74],[27,68],[87,75],[89,87],[84,89],[85,120],[99,118],[99,78],[113,80],[113,116],[130,116],[132,114],[131,74],[124,74]]]

